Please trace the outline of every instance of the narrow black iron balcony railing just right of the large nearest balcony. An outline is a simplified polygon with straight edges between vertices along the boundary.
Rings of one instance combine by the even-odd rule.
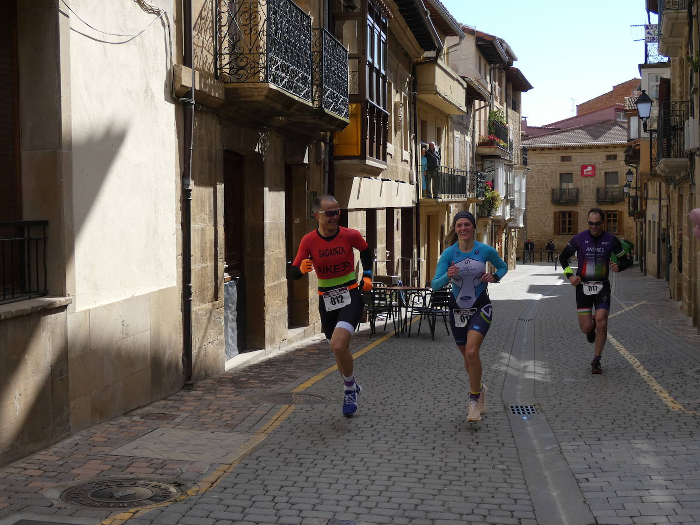
[[[348,118],[348,50],[326,29],[313,33],[314,106]]]

